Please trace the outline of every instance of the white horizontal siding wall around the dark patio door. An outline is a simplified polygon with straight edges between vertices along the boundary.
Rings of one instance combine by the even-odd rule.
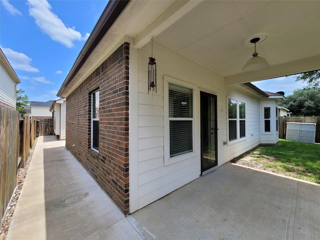
[[[153,56],[157,67],[157,92],[147,93],[150,52],[149,44],[139,49],[130,46],[130,84],[136,84],[130,85],[129,103],[130,212],[199,177],[200,90],[217,95],[218,165],[260,143],[260,96],[242,86],[225,87],[223,77],[156,41],[153,42]],[[194,100],[192,152],[174,157],[169,156],[168,82],[193,89]],[[246,108],[246,136],[230,145],[224,144],[227,141],[227,95],[245,102]]]

